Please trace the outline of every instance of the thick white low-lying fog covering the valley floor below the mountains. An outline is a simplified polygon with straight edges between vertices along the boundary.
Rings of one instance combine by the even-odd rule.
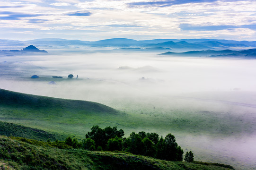
[[[192,149],[195,160],[228,163],[238,169],[256,167],[256,59],[48,52],[0,57],[0,88],[100,102],[132,114],[155,107],[167,115],[184,111],[184,117],[193,118],[200,113],[204,120],[208,115],[209,119],[223,120],[220,127],[214,127],[216,132],[186,134],[170,129],[178,144]],[[67,79],[69,74],[74,78]],[[40,78],[31,79],[32,75]],[[56,84],[48,84],[50,81]],[[202,123],[209,128],[209,122]],[[221,129],[229,131],[222,133]]]

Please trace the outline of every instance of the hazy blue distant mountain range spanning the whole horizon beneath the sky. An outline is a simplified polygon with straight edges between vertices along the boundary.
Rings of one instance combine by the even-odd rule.
[[[192,51],[192,50],[244,50],[256,48],[256,41],[233,41],[217,39],[154,39],[133,40],[127,38],[112,38],[100,41],[66,40],[60,38],[43,38],[29,41],[0,40],[0,47],[17,47],[33,44],[47,49],[69,48],[120,48],[121,50],[164,50]]]

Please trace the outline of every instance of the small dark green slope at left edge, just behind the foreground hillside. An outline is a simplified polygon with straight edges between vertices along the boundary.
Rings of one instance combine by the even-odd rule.
[[[25,127],[3,121],[0,121],[0,135],[26,137],[29,139],[36,139],[40,141],[46,141],[48,139],[50,139],[51,141],[55,141],[56,139],[64,140],[66,137],[63,135],[59,135],[58,133],[49,133],[44,130]]]

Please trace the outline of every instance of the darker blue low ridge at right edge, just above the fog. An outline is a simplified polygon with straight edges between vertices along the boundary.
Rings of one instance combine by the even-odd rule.
[[[248,49],[248,50],[206,50],[206,51],[187,51],[187,52],[165,52],[159,55],[163,56],[196,56],[196,57],[248,57],[255,58],[256,57],[256,49]]]

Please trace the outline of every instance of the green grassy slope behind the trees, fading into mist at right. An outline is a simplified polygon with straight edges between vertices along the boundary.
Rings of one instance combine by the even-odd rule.
[[[122,111],[95,102],[0,90],[0,120],[43,129],[50,133],[58,132],[64,136],[76,136],[80,139],[84,138],[93,125],[117,126],[124,129],[127,136],[132,131],[152,132],[152,129],[163,136],[173,132],[227,136],[240,133],[247,128],[246,124],[237,120],[240,118],[223,118],[223,115],[217,112],[194,110],[188,112],[186,109],[162,109],[162,107],[153,109],[151,102],[145,106],[137,101],[120,100],[116,103],[116,106],[119,106],[117,108]],[[237,123],[239,128],[234,131],[233,127],[238,126]]]

